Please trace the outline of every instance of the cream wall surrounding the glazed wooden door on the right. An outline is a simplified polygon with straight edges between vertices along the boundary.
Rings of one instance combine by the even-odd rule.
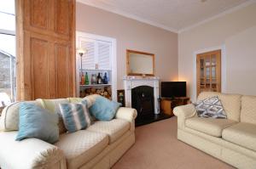
[[[196,98],[195,53],[216,47],[225,48],[223,92],[256,95],[255,17],[253,3],[178,35],[178,79],[188,82],[192,100]]]

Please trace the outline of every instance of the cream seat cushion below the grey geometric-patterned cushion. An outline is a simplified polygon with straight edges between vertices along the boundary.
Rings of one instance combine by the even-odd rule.
[[[236,121],[201,117],[193,117],[185,121],[186,127],[218,138],[221,137],[224,128],[234,124],[236,124]]]

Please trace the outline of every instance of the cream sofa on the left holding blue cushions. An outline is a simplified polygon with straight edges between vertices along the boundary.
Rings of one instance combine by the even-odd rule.
[[[93,104],[94,99],[87,97],[90,104]],[[63,99],[53,99],[49,102],[57,106],[62,101]],[[41,100],[32,102],[47,109]],[[135,143],[134,120],[137,111],[124,107],[119,108],[112,121],[95,121],[86,130],[67,133],[60,126],[60,139],[55,144],[48,144],[37,138],[15,141],[19,124],[19,104],[5,108],[0,119],[2,169],[107,169]]]

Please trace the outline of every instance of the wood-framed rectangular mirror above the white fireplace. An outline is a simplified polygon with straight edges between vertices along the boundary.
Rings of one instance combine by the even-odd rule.
[[[128,76],[154,76],[154,54],[126,50]]]

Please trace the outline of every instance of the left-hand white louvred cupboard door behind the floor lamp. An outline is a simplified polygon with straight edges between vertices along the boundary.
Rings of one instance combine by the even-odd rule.
[[[95,70],[96,69],[96,57],[95,57],[96,41],[89,38],[79,37],[79,43],[80,43],[80,47],[84,48],[86,51],[82,57],[83,70]]]

